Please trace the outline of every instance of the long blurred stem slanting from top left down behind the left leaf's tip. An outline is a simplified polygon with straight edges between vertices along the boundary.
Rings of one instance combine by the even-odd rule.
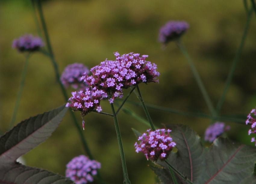
[[[52,65],[53,65],[54,70],[55,70],[56,80],[58,81],[58,83],[59,83],[59,85],[61,87],[61,91],[62,91],[62,94],[64,96],[65,101],[68,101],[68,96],[67,96],[66,89],[64,88],[63,84],[60,81],[60,74],[59,74],[59,70],[58,70],[58,64],[55,61],[55,57],[54,57],[54,54],[53,54],[53,51],[52,51],[52,47],[51,47],[51,43],[50,43],[50,38],[49,38],[49,35],[48,35],[46,23],[45,23],[45,20],[44,20],[43,11],[42,11],[42,5],[41,5],[41,1],[40,0],[37,1],[37,6],[38,6],[38,10],[39,10],[39,17],[40,17],[40,20],[41,20],[41,23],[42,23],[43,32],[44,32],[45,39],[46,39],[46,44],[47,44],[47,48],[48,48],[49,58],[51,59]],[[77,129],[77,131],[78,131],[78,133],[80,135],[80,139],[81,139],[81,141],[83,143],[83,147],[84,147],[87,155],[89,156],[89,158],[93,159],[92,153],[90,152],[89,147],[88,147],[88,145],[86,143],[86,140],[85,140],[85,138],[83,136],[82,129],[81,129],[79,123],[76,120],[76,116],[75,116],[75,114],[73,113],[73,111],[71,109],[69,109],[69,110],[70,110],[71,116],[73,118],[73,122],[74,122],[74,124],[76,126],[76,129]]]

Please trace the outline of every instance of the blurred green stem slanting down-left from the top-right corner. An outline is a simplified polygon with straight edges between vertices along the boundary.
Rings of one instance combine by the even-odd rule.
[[[221,107],[222,107],[222,105],[223,105],[223,103],[225,101],[225,97],[226,97],[227,91],[229,89],[230,83],[231,83],[232,78],[234,76],[234,72],[235,72],[237,63],[239,61],[239,58],[241,56],[242,49],[244,47],[245,39],[246,39],[246,36],[247,36],[247,33],[248,33],[248,29],[249,29],[249,24],[250,24],[250,20],[251,20],[252,11],[253,11],[252,8],[248,11],[247,20],[246,20],[246,23],[245,23],[245,29],[244,29],[244,32],[243,32],[243,35],[242,35],[242,40],[241,40],[241,43],[240,43],[240,45],[238,47],[236,55],[234,57],[232,66],[231,66],[231,68],[229,70],[229,74],[228,74],[228,77],[227,77],[227,80],[226,80],[226,85],[224,87],[223,93],[222,93],[221,98],[220,98],[220,100],[219,100],[219,102],[217,104],[217,114],[220,112]]]

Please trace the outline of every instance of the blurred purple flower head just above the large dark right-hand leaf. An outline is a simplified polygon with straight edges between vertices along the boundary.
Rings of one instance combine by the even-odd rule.
[[[225,123],[223,122],[216,122],[210,125],[204,133],[204,140],[213,142],[218,136],[220,136],[224,131],[230,129],[230,126],[225,127]]]

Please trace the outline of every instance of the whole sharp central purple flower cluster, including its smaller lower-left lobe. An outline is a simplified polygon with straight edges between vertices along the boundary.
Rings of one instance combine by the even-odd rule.
[[[96,110],[100,112],[100,100],[109,98],[113,103],[114,99],[123,97],[123,89],[139,83],[158,82],[157,65],[146,61],[147,55],[129,53],[120,56],[114,53],[115,61],[105,60],[91,68],[92,75],[85,74],[81,77],[89,88],[78,92],[72,92],[66,107],[81,111],[82,116]]]

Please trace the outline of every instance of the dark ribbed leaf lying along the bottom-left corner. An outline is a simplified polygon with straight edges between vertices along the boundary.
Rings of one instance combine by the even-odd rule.
[[[8,184],[74,184],[68,178],[50,171],[19,163],[0,166],[0,183]]]

